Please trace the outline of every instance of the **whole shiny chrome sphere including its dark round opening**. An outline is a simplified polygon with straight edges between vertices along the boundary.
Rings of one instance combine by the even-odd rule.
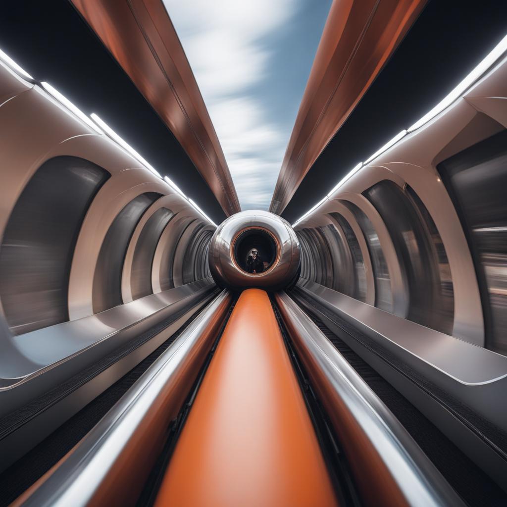
[[[276,291],[299,277],[299,241],[280,216],[257,209],[241,211],[213,234],[209,269],[222,287]]]

